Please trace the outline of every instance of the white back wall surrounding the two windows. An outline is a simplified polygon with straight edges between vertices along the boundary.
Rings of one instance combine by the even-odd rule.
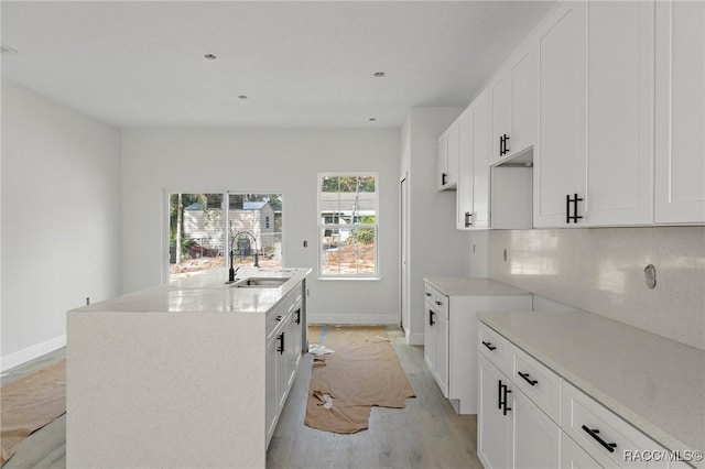
[[[399,141],[398,130],[124,130],[123,292],[162,282],[164,190],[281,192],[284,263],[314,269],[308,320],[399,324]],[[316,279],[318,172],[379,173],[380,281]]]

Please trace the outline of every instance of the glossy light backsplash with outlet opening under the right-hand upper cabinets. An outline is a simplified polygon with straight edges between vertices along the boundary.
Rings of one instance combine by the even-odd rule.
[[[490,230],[487,254],[490,279],[705,350],[705,227]]]

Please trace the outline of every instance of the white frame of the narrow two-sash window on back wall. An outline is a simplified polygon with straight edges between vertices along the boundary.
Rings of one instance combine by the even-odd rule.
[[[325,222],[325,218],[322,215],[322,186],[323,179],[325,177],[373,177],[375,178],[375,223],[360,223],[360,225],[346,225],[340,223],[339,217],[338,222],[328,223]],[[317,241],[317,279],[318,280],[352,280],[352,281],[379,281],[381,279],[380,275],[380,250],[379,250],[379,220],[380,220],[380,210],[379,210],[379,173],[378,172],[325,172],[316,174],[316,218],[317,218],[317,228],[318,232],[316,234]],[[328,217],[326,217],[328,218]],[[323,273],[323,261],[324,261],[324,233],[326,229],[336,229],[336,230],[350,230],[350,229],[372,229],[375,233],[375,272],[369,273]]]

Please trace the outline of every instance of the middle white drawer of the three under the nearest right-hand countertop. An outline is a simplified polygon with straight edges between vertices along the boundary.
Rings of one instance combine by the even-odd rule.
[[[561,377],[512,346],[511,381],[555,423],[561,423]]]

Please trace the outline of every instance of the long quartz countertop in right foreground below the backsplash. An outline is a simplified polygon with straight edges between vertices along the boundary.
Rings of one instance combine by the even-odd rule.
[[[585,312],[478,319],[666,449],[705,450],[705,351]]]

